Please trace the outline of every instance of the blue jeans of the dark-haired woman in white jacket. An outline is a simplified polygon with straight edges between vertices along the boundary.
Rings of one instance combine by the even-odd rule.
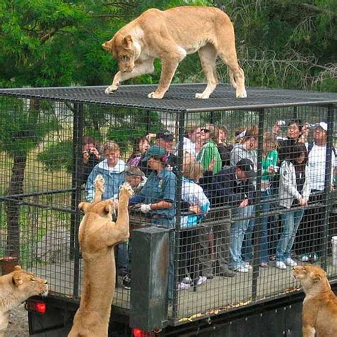
[[[276,248],[276,260],[282,261],[290,257],[290,250],[294,245],[297,229],[303,217],[304,210],[295,210],[281,214],[282,235],[279,238]]]

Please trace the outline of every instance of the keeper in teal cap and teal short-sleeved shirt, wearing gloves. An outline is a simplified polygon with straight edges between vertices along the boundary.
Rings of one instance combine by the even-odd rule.
[[[152,173],[144,187],[131,203],[140,203],[137,208],[151,217],[151,224],[157,227],[173,228],[176,216],[176,175],[167,167],[164,147],[154,145],[146,152],[143,161],[147,161]],[[173,235],[173,231],[171,231]],[[170,239],[169,299],[173,294],[173,244]]]

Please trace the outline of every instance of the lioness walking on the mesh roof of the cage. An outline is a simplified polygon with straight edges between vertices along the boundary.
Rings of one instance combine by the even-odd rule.
[[[120,82],[154,71],[154,59],[161,59],[161,77],[150,98],[163,98],[178,64],[198,51],[207,87],[196,98],[208,98],[218,84],[215,62],[219,56],[230,69],[236,97],[245,98],[245,75],[237,63],[235,34],[227,14],[214,7],[183,6],[159,11],[149,9],[103,43],[118,61],[119,72],[105,90],[111,94]]]

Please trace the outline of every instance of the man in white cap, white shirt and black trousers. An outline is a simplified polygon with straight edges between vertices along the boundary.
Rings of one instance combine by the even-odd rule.
[[[326,140],[328,124],[320,122],[314,129],[314,143],[309,144],[308,163],[311,178],[311,195],[309,203],[321,203],[326,178]],[[336,150],[331,150],[331,188],[333,188],[333,171],[336,167]],[[299,230],[297,253],[304,262],[309,259],[316,261],[323,244],[324,208],[316,207],[306,210],[304,220]]]

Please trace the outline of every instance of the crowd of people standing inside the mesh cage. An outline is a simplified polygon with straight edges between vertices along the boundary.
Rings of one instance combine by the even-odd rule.
[[[263,134],[260,179],[256,125],[235,130],[234,144],[228,142],[225,126],[189,125],[183,137],[181,165],[173,146],[174,135],[166,129],[135,139],[127,161],[121,158],[119,145],[114,141],[107,141],[100,148],[95,139],[84,137],[81,179],[85,183],[85,198],[92,202],[98,174],[106,182],[103,199],[118,198],[119,186],[127,181],[135,192],[130,207],[146,216],[151,225],[173,229],[178,207],[177,173],[181,171],[179,280],[175,286],[175,231],[171,230],[169,298],[174,288],[185,290],[215,276],[234,277],[236,273],[249,272],[254,255],[263,268],[274,265],[287,269],[299,261],[316,261],[323,245],[321,201],[327,181],[333,188],[336,151],[333,146],[331,154],[326,151],[326,122],[311,126],[312,142],[308,141],[308,123],[291,120],[284,126],[285,138],[280,137],[282,124],[277,122]],[[257,193],[257,181],[261,193]],[[259,221],[254,216],[257,194]],[[312,206],[316,203],[319,208]],[[203,226],[208,212],[221,207],[225,207],[221,221]],[[125,289],[131,284],[131,246],[129,240],[118,247],[117,266]]]

